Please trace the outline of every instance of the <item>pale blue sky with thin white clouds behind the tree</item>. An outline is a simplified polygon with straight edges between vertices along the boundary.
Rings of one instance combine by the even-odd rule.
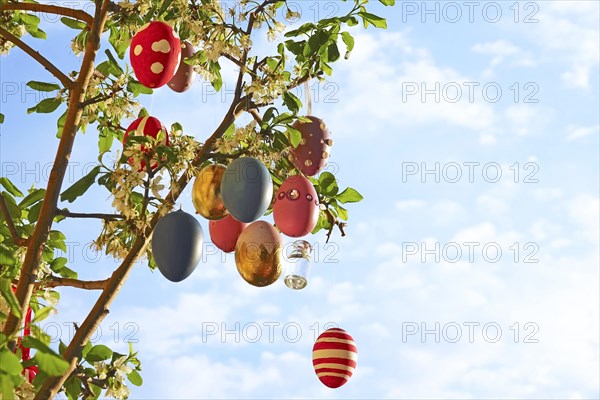
[[[345,7],[297,4],[305,19]],[[598,397],[599,3],[477,2],[472,21],[463,2],[427,7],[436,4],[437,22],[423,2],[374,5],[389,29],[353,29],[350,59],[318,90],[314,83],[313,114],[335,140],[328,168],[365,200],[350,207],[347,237],[329,246],[310,237],[318,260],[306,289],[251,287],[233,255],[206,255],[179,284],[136,266],[96,338],[122,350],[128,334],[137,340],[145,383],[131,398]],[[456,9],[462,17],[452,22]],[[75,69],[72,31],[45,30],[39,50]],[[43,185],[60,114],[26,116],[36,98],[24,85],[51,78],[19,50],[0,68],[2,175]],[[200,78],[185,94],[165,88],[143,102],[199,140],[228,105]],[[78,135],[71,182],[95,160],[96,142],[92,130]],[[69,208],[109,211],[110,202],[98,189]],[[182,206],[193,211],[189,188]],[[59,225],[81,279],[117,265],[86,250],[99,227]],[[43,327],[68,340],[67,323],[81,321],[96,294],[61,293]],[[311,364],[315,332],[328,322],[359,353],[337,391]]]

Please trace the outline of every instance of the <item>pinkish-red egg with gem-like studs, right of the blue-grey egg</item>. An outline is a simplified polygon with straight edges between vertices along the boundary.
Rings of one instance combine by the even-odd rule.
[[[308,179],[290,176],[275,194],[273,219],[279,230],[291,237],[308,235],[319,220],[319,197]]]

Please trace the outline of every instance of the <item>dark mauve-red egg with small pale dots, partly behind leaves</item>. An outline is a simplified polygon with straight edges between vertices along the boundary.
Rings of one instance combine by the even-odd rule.
[[[292,125],[302,134],[302,140],[292,149],[292,162],[304,175],[314,176],[327,164],[333,139],[323,120],[308,116],[311,122],[296,121]]]

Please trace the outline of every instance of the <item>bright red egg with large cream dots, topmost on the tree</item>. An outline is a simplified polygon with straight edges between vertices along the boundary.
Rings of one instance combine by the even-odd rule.
[[[154,21],[135,34],[129,48],[129,59],[135,77],[146,87],[155,89],[175,75],[181,56],[181,42],[173,28]]]

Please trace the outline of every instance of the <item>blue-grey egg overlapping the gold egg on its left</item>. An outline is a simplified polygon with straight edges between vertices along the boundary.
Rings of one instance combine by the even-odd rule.
[[[242,222],[256,221],[271,204],[271,174],[256,158],[238,158],[225,170],[221,195],[225,207],[235,219]]]

